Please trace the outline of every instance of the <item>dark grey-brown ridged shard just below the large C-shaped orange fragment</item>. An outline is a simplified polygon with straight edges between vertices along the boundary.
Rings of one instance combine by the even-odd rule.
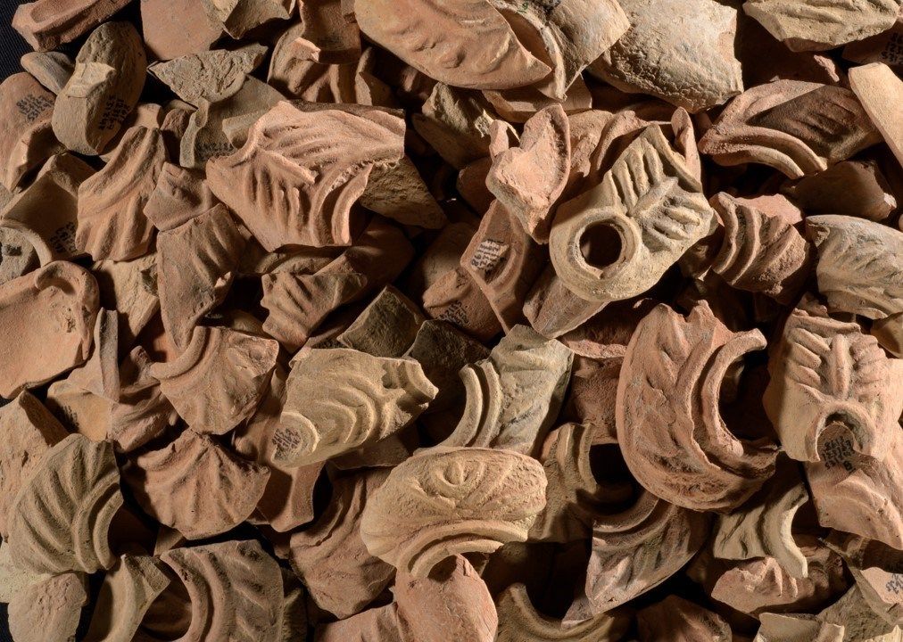
[[[586,596],[603,613],[665,582],[696,554],[709,518],[644,491],[625,511],[593,525]]]

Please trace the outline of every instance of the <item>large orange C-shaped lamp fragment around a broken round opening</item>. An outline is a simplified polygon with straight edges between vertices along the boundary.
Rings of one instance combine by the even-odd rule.
[[[678,506],[729,512],[771,476],[775,444],[740,440],[719,411],[724,377],[763,348],[759,330],[731,332],[705,302],[686,318],[658,305],[639,322],[621,366],[615,422],[640,484]]]

